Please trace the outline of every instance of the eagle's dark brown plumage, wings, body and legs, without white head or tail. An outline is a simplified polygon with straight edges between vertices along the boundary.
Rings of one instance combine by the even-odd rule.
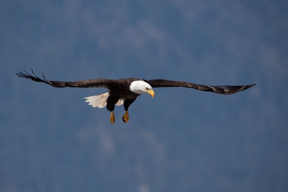
[[[32,70],[32,73],[34,74],[33,70]],[[198,89],[201,91],[210,91],[210,92],[219,93],[219,94],[233,94],[233,93],[237,93],[239,91],[248,89],[255,85],[255,84],[251,84],[251,85],[241,85],[241,86],[230,86],[230,85],[211,86],[211,85],[198,85],[198,84],[184,82],[184,81],[172,81],[172,80],[166,80],[166,79],[145,80],[145,79],[139,79],[139,78],[126,78],[126,79],[118,79],[118,80],[102,78],[102,79],[89,79],[89,80],[80,80],[80,81],[50,81],[50,80],[46,80],[46,78],[44,77],[44,74],[43,74],[43,79],[37,77],[35,74],[34,76],[32,76],[28,74],[27,72],[26,74],[22,72],[18,72],[16,74],[19,77],[28,78],[37,82],[44,82],[53,87],[80,87],[80,88],[103,87],[103,88],[107,88],[109,90],[109,97],[107,98],[107,109],[111,111],[112,113],[114,111],[115,104],[118,102],[119,99],[125,99],[124,108],[125,108],[125,111],[128,111],[129,106],[140,95],[138,93],[132,92],[130,89],[131,83],[135,81],[144,81],[153,88],[154,87],[187,87],[187,88]],[[111,117],[110,117],[110,122],[111,122]]]

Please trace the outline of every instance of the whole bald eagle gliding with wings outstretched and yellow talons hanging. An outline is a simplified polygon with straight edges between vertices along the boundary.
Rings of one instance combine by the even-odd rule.
[[[25,70],[24,70],[25,71]],[[26,73],[26,74],[25,74]],[[210,91],[219,94],[233,94],[239,91],[248,89],[255,84],[250,85],[240,85],[240,86],[211,86],[211,85],[198,85],[194,83],[184,82],[184,81],[172,81],[165,79],[153,79],[145,80],[139,78],[126,78],[126,79],[89,79],[80,81],[50,81],[46,80],[44,73],[42,74],[43,79],[35,75],[32,70],[33,75],[30,75],[25,71],[22,73],[18,71],[16,75],[18,77],[24,77],[37,82],[47,83],[53,87],[80,87],[80,88],[90,88],[90,87],[103,87],[108,89],[108,92],[94,95],[90,97],[85,97],[86,102],[92,107],[103,108],[107,106],[107,110],[111,112],[110,123],[113,125],[115,123],[115,115],[113,113],[115,105],[119,106],[124,104],[125,114],[122,116],[124,123],[129,121],[128,108],[142,93],[148,93],[154,97],[154,91],[152,88],[155,87],[187,87],[198,89],[201,91]]]

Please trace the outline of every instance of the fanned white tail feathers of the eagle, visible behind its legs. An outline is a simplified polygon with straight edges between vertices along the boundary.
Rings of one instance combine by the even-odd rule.
[[[85,97],[87,99],[85,102],[89,102],[88,105],[92,105],[92,107],[103,108],[107,105],[107,99],[110,96],[109,92],[103,93],[101,95],[94,95],[90,97]],[[116,105],[122,105],[125,99],[119,99]]]

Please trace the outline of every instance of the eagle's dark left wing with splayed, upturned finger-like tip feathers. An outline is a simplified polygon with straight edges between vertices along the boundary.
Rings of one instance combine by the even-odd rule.
[[[31,79],[33,81],[47,83],[53,87],[80,87],[80,88],[103,87],[103,88],[110,88],[114,85],[119,85],[119,82],[117,80],[113,80],[113,79],[89,79],[89,80],[81,80],[81,81],[50,81],[50,80],[46,80],[44,74],[42,74],[43,79],[39,78],[38,76],[35,75],[33,70],[32,70],[32,73],[34,76],[30,75],[26,71],[25,71],[25,73],[18,71],[18,73],[16,73],[16,75],[18,77]]]

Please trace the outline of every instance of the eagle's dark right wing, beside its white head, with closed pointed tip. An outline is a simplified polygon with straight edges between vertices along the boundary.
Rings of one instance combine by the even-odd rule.
[[[171,81],[165,79],[153,79],[153,80],[146,80],[152,87],[187,87],[198,89],[201,91],[210,91],[213,93],[219,94],[233,94],[239,91],[243,91],[255,85],[224,85],[224,86],[213,86],[213,85],[198,85],[194,83],[184,82],[184,81]]]

